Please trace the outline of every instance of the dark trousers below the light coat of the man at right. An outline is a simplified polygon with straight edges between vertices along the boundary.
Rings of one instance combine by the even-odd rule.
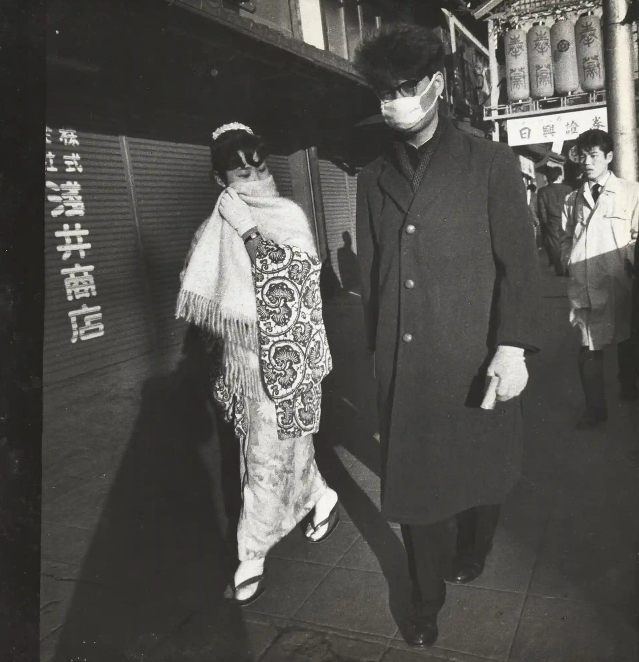
[[[636,387],[638,370],[636,342],[624,340],[617,345],[618,379],[622,389]],[[603,350],[579,350],[579,377],[586,406],[589,409],[606,410],[606,393],[603,383]]]

